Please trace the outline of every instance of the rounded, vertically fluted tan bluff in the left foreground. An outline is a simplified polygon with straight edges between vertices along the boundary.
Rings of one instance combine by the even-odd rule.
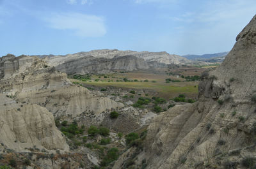
[[[65,137],[46,108],[18,103],[3,94],[0,99],[0,142],[8,149],[24,151],[35,146],[68,151]]]

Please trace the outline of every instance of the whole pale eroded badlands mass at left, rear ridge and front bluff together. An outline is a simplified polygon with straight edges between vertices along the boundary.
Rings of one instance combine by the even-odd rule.
[[[0,62],[0,142],[15,151],[37,147],[68,151],[54,117],[77,117],[123,107],[74,85],[38,57],[7,55]]]

